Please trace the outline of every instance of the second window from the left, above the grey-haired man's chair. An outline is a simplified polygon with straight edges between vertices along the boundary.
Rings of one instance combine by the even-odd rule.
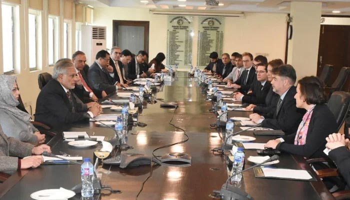
[[[41,68],[41,12],[30,10],[28,14],[29,69]]]

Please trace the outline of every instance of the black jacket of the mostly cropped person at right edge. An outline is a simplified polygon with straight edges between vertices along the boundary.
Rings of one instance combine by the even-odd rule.
[[[329,151],[328,156],[332,159],[342,177],[350,185],[350,152],[345,146],[340,146]]]

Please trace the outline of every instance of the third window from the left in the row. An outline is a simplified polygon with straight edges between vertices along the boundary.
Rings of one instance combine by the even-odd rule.
[[[58,17],[48,17],[48,64],[58,60]]]

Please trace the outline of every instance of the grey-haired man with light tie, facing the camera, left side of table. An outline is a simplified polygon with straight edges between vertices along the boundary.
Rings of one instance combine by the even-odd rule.
[[[128,81],[123,75],[123,64],[120,61],[121,49],[117,46],[113,46],[110,49],[109,64],[113,67],[114,80],[117,82],[118,87],[120,85],[127,87]],[[121,87],[121,86],[120,86]]]

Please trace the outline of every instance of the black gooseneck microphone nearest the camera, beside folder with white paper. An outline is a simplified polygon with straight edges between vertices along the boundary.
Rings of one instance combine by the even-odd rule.
[[[244,171],[247,171],[253,167],[256,167],[256,166],[259,166],[261,164],[264,164],[266,162],[271,162],[271,161],[274,161],[274,160],[277,160],[279,158],[278,155],[272,155],[269,159],[263,161],[263,162],[260,162],[258,164],[255,164],[253,166],[250,166],[244,170],[241,170],[241,171],[238,171],[238,172],[235,172],[235,173],[232,173],[232,175],[230,175],[226,182],[222,185],[220,191],[214,191],[214,193],[218,193],[219,192],[219,196],[221,197],[221,199],[253,199],[249,194],[247,194],[246,192],[240,190],[238,187],[235,187],[233,185],[231,185],[230,188],[228,188],[228,181],[229,179],[231,179],[234,175],[238,174],[238,173],[241,173],[241,172],[244,172]]]

